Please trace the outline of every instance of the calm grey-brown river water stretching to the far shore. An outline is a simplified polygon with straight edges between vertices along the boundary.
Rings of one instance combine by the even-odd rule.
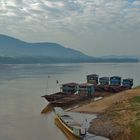
[[[87,74],[97,73],[134,78],[137,86],[139,71],[140,63],[0,65],[0,140],[67,140],[55,126],[53,112],[40,113],[47,105],[41,96],[59,89],[56,80],[85,82]]]

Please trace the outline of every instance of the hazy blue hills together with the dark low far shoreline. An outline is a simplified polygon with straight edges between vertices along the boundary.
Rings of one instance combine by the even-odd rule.
[[[28,43],[0,34],[0,64],[137,61],[133,58],[96,58],[57,43]]]

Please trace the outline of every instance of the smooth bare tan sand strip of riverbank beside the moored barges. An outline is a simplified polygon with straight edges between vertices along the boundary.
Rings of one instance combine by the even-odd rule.
[[[132,98],[137,95],[140,95],[140,88],[116,93],[114,95],[105,97],[102,100],[95,101],[95,102],[93,101],[89,104],[75,108],[72,111],[84,112],[84,113],[99,113],[99,112],[103,112],[104,110],[106,110],[112,104],[127,100],[127,99]]]

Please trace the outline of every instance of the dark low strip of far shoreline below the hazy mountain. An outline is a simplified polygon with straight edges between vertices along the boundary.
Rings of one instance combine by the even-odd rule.
[[[139,63],[137,58],[65,58],[51,56],[0,56],[0,64]]]

